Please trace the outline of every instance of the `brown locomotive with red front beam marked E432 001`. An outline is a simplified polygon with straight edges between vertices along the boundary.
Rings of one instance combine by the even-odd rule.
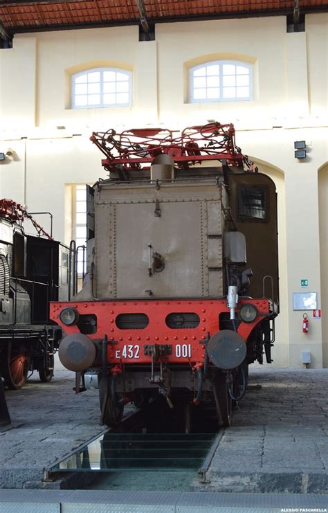
[[[233,125],[93,133],[109,178],[87,190],[87,272],[60,359],[76,391],[99,388],[101,420],[162,395],[215,404],[228,426],[248,364],[271,362],[278,314],[277,196]],[[82,377],[82,383],[81,383]]]

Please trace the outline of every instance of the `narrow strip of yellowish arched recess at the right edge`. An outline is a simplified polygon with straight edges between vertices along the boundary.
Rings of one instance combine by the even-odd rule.
[[[322,366],[328,367],[328,163],[318,171]]]

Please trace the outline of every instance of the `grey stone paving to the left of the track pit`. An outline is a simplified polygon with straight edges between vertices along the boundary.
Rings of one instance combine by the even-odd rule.
[[[42,479],[45,467],[104,430],[98,390],[75,394],[74,377],[60,370],[41,383],[33,375],[21,390],[6,391],[12,424],[0,428],[0,488]]]

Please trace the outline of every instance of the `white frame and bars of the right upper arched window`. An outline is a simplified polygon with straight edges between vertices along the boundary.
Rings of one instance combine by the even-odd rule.
[[[234,66],[242,66],[246,69],[248,69],[248,77],[249,77],[249,94],[247,97],[242,98],[224,98],[223,96],[223,66],[224,64],[233,64]],[[194,98],[194,71],[197,71],[197,69],[206,68],[207,66],[219,66],[219,93],[220,98]],[[218,75],[214,75],[218,76]],[[233,76],[233,75],[231,75]],[[235,86],[236,88],[237,86]],[[208,89],[207,87],[204,89]],[[244,61],[237,61],[237,60],[216,60],[216,61],[209,61],[209,62],[203,62],[203,64],[199,64],[198,66],[193,66],[189,69],[189,103],[215,103],[215,102],[246,102],[253,100],[253,65],[249,64],[248,62]]]

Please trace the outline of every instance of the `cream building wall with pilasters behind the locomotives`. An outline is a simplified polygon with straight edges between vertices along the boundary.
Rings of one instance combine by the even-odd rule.
[[[234,123],[237,144],[279,195],[274,365],[301,367],[307,349],[311,366],[322,366],[322,351],[327,366],[327,29],[320,14],[306,17],[303,33],[286,33],[285,17],[267,17],[160,24],[152,42],[139,42],[136,26],[16,35],[12,49],[0,50],[0,151],[12,151],[0,163],[0,197],[50,210],[55,237],[68,242],[65,186],[105,177],[91,132]],[[188,68],[214,59],[253,64],[253,100],[188,103]],[[98,66],[132,71],[131,107],[70,108],[71,74]],[[293,143],[302,140],[308,156],[298,161]],[[292,303],[301,278],[322,309],[306,335]]]

